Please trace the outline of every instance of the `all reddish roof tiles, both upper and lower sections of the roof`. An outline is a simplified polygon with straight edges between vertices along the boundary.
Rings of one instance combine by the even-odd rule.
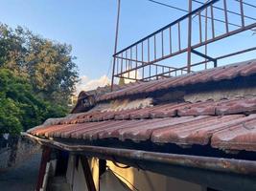
[[[162,89],[172,93],[172,88],[178,86],[221,82],[223,79],[231,80],[231,85],[236,86],[235,78],[255,74],[256,61],[247,61],[198,74],[129,85],[126,89],[101,96],[99,100],[147,95]],[[250,81],[251,84],[255,88],[256,82]],[[135,144],[201,145],[226,151],[256,152],[256,94],[218,100],[206,98],[198,102],[181,99],[121,111],[93,109],[47,121],[28,133],[40,138],[81,140],[84,144],[115,139],[120,144],[128,140]]]

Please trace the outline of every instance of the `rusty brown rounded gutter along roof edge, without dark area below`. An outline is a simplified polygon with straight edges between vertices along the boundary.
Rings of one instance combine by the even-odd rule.
[[[90,145],[70,145],[62,142],[57,142],[52,139],[38,138],[28,133],[22,133],[22,136],[30,138],[41,145],[47,145],[73,153],[86,152],[86,155],[104,159],[134,159],[140,161],[159,162],[182,167],[213,170],[223,173],[235,173],[239,175],[249,176],[256,175],[256,161],[251,160],[222,158],[220,159],[212,157],[176,155]]]

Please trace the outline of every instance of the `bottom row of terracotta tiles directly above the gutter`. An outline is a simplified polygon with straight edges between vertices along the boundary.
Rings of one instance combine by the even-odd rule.
[[[225,150],[256,151],[256,115],[223,117],[165,117],[153,119],[106,120],[82,124],[53,125],[31,134],[40,137],[130,139],[134,142],[177,145],[206,145]]]

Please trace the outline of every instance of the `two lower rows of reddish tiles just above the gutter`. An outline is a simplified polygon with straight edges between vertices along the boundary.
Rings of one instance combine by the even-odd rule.
[[[255,112],[256,97],[172,103],[128,111],[88,112],[30,133],[44,138],[118,138],[256,151]]]

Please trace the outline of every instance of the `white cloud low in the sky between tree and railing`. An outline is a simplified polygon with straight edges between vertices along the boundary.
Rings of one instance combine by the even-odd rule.
[[[98,87],[104,87],[107,84],[110,84],[110,79],[106,75],[103,75],[98,79],[90,79],[88,76],[82,75],[76,86],[76,94],[79,95],[81,91],[95,90]]]

